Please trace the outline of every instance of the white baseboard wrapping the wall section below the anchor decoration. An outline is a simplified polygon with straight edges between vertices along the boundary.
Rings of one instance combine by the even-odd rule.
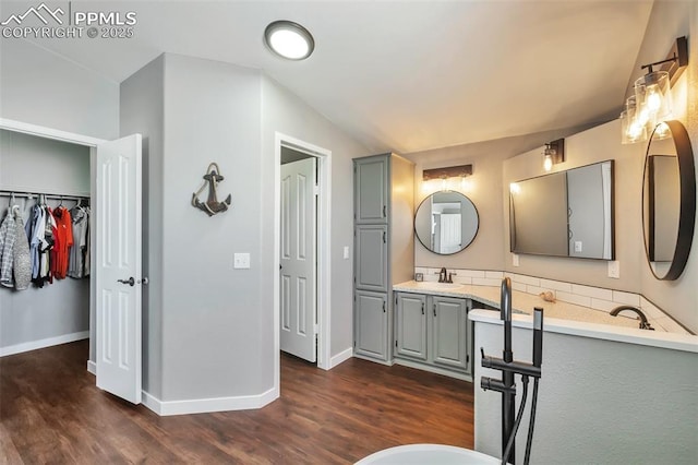
[[[143,391],[142,403],[163,417],[170,415],[207,414],[213,412],[250,410],[262,408],[279,397],[279,391],[273,388],[258,395],[238,397],[195,398],[190,401],[160,401]]]

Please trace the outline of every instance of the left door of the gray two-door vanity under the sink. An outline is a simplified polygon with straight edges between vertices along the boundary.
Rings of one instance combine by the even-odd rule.
[[[395,355],[426,360],[426,296],[396,294]]]

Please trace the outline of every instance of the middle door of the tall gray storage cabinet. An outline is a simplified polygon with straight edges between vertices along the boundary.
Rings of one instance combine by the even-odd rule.
[[[388,247],[386,225],[357,226],[354,263],[357,289],[388,291]]]

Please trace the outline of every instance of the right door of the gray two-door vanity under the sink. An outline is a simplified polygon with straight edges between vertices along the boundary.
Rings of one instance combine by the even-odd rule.
[[[468,301],[432,297],[432,361],[450,368],[467,369]]]

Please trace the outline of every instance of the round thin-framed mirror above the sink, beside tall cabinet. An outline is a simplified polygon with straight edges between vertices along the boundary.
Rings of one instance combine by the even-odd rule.
[[[424,199],[414,215],[414,234],[434,253],[460,252],[478,234],[478,210],[455,191],[435,192]]]

